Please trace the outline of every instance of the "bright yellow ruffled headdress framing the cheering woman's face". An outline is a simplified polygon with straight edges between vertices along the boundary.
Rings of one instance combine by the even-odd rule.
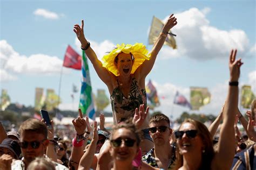
[[[131,44],[117,44],[117,48],[113,49],[109,54],[106,54],[103,56],[102,60],[103,60],[103,67],[105,67],[107,70],[109,70],[111,73],[113,73],[114,75],[118,76],[118,70],[116,65],[114,65],[114,59],[116,58],[116,56],[119,53],[126,53],[129,54],[131,53],[134,57],[134,61],[133,61],[133,65],[132,65],[132,70],[131,70],[131,74],[133,74],[136,69],[142,65],[142,63],[145,60],[149,60],[149,54],[146,46],[143,45],[142,43],[138,43],[136,42],[134,45]]]

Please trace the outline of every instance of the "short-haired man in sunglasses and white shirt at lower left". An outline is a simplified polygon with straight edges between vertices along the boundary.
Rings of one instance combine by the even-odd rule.
[[[12,169],[27,169],[29,164],[37,157],[49,159],[45,153],[49,145],[48,129],[46,125],[37,119],[27,119],[19,126],[19,146],[23,158],[15,160],[11,166]],[[57,162],[52,161],[56,169],[68,169]]]

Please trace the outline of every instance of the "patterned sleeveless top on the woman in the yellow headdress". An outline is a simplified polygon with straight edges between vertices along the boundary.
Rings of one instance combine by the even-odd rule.
[[[139,88],[138,82],[134,77],[132,77],[130,92],[127,98],[122,93],[118,80],[117,85],[110,95],[114,124],[133,117],[135,109],[139,108],[140,104],[145,104],[146,108],[146,90]]]

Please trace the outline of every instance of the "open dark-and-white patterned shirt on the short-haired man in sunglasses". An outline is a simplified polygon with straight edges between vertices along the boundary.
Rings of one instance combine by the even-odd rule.
[[[172,147],[172,155],[169,161],[168,169],[174,168],[174,161],[176,159],[176,156],[175,156],[176,147],[173,145],[171,145],[171,147]],[[157,161],[154,158],[154,148],[152,148],[149,152],[147,152],[147,154],[145,154],[142,157],[142,160],[145,161],[147,164],[151,165],[152,167],[159,168],[157,165]]]

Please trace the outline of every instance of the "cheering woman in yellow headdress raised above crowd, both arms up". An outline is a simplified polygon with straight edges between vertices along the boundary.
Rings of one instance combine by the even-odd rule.
[[[81,48],[109,89],[114,124],[132,118],[135,109],[139,108],[140,104],[146,104],[145,78],[150,73],[169,30],[177,24],[176,20],[173,15],[169,17],[151,53],[148,54],[146,46],[139,43],[117,45],[117,48],[103,56],[104,63],[98,60],[90,42],[85,39],[84,21],[82,20],[81,26],[74,26],[73,31],[77,34]],[[149,116],[142,126],[143,138],[147,139],[142,142],[142,150],[145,152],[153,147],[148,128]]]

